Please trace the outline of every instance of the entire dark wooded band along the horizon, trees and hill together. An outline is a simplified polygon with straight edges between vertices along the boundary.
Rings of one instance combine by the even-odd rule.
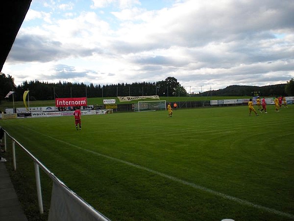
[[[189,94],[174,77],[153,83],[118,83],[106,85],[90,85],[84,83],[58,83],[24,81],[16,86],[10,75],[0,73],[0,101],[4,100],[9,91],[14,91],[13,99],[22,101],[23,94],[29,90],[30,100],[54,100],[62,97],[117,97],[117,96],[148,96],[159,95],[164,97],[185,96],[294,96],[294,79],[284,84],[267,86],[230,85],[219,90],[210,90],[197,94]],[[8,99],[12,99],[10,96]],[[7,98],[5,98],[7,99]]]

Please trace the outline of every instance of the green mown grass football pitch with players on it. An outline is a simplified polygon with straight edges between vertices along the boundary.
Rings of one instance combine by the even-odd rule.
[[[268,112],[248,116],[239,106],[176,110],[172,118],[167,111],[85,115],[81,131],[73,116],[0,125],[111,220],[294,220],[294,106]],[[33,163],[16,152],[20,198],[37,200]],[[43,175],[41,184],[48,210],[51,181]],[[34,203],[26,213],[37,210]]]

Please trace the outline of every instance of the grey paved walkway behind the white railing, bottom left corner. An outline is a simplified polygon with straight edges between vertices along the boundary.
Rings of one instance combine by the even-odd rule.
[[[0,163],[0,221],[27,221],[5,163]]]

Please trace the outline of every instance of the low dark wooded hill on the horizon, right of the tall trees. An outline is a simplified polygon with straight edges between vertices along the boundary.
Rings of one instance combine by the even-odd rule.
[[[192,96],[252,96],[252,92],[258,91],[261,96],[286,96],[286,83],[274,84],[268,86],[244,86],[230,85],[219,90],[205,91]]]

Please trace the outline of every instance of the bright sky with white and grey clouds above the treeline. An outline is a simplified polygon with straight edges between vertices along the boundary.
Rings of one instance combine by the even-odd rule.
[[[294,78],[294,0],[32,0],[2,73],[187,92]]]

